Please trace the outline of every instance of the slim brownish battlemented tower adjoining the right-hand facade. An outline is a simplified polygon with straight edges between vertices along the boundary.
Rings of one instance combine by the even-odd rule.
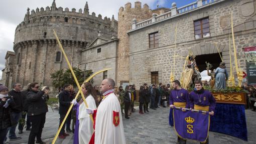
[[[135,8],[131,3],[125,4],[118,12],[118,50],[117,50],[117,84],[129,81],[129,36],[127,32],[132,30],[133,19],[137,22],[150,19],[152,11],[145,4],[142,8],[141,2],[135,2]]]

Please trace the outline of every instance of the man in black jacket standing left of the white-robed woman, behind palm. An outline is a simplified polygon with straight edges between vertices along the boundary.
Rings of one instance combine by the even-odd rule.
[[[61,125],[62,121],[64,120],[64,117],[65,117],[66,113],[68,112],[69,106],[72,101],[69,97],[69,91],[70,91],[69,84],[65,84],[63,86],[63,91],[61,91],[59,94],[59,102],[60,102],[60,107],[59,107],[60,124],[59,124],[59,126]],[[69,134],[65,133],[65,125],[66,125],[66,121],[60,130],[60,134],[59,134],[60,138],[65,138],[66,136],[69,135]],[[71,131],[67,131],[67,132],[71,132]]]

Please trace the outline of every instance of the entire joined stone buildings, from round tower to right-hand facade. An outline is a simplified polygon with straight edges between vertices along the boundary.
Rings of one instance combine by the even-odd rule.
[[[229,71],[231,13],[238,64],[246,71],[243,48],[256,46],[255,8],[256,0],[198,0],[181,8],[172,4],[171,8],[156,10],[150,10],[147,4],[142,8],[136,2],[135,8],[127,3],[119,9],[118,23],[113,17],[102,20],[101,15],[89,15],[87,3],[78,13],[57,8],[55,1],[45,10],[28,9],[15,33],[12,83],[38,81],[51,85],[50,73],[67,68],[53,29],[73,67],[93,72],[112,68],[94,77],[94,84],[106,77],[113,78],[118,86],[130,83],[137,88],[144,83],[170,83],[173,67],[174,78],[180,79],[189,52],[196,56],[202,71],[205,61],[213,68],[218,66],[219,50]],[[231,60],[234,67],[233,57]]]

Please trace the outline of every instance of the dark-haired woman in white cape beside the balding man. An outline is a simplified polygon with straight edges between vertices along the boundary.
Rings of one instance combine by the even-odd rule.
[[[93,86],[89,82],[82,84],[82,92],[84,94],[85,100],[88,107],[85,106],[83,99],[81,99],[81,104],[79,105],[79,143],[89,143],[93,129],[93,123],[90,119],[90,115],[86,112],[86,108],[97,109],[97,93]]]

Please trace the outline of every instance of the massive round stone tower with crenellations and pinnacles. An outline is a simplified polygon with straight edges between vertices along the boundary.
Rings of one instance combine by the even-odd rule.
[[[73,67],[80,68],[81,50],[85,49],[101,32],[101,37],[111,39],[117,37],[117,21],[103,18],[99,14],[89,14],[86,2],[84,12],[79,9],[57,8],[55,0],[51,7],[28,8],[24,21],[15,31],[14,51],[16,62],[13,82],[27,85],[37,81],[44,85],[52,85],[50,74],[68,68],[60,52],[56,31],[69,62]],[[84,70],[84,68],[81,68]]]

